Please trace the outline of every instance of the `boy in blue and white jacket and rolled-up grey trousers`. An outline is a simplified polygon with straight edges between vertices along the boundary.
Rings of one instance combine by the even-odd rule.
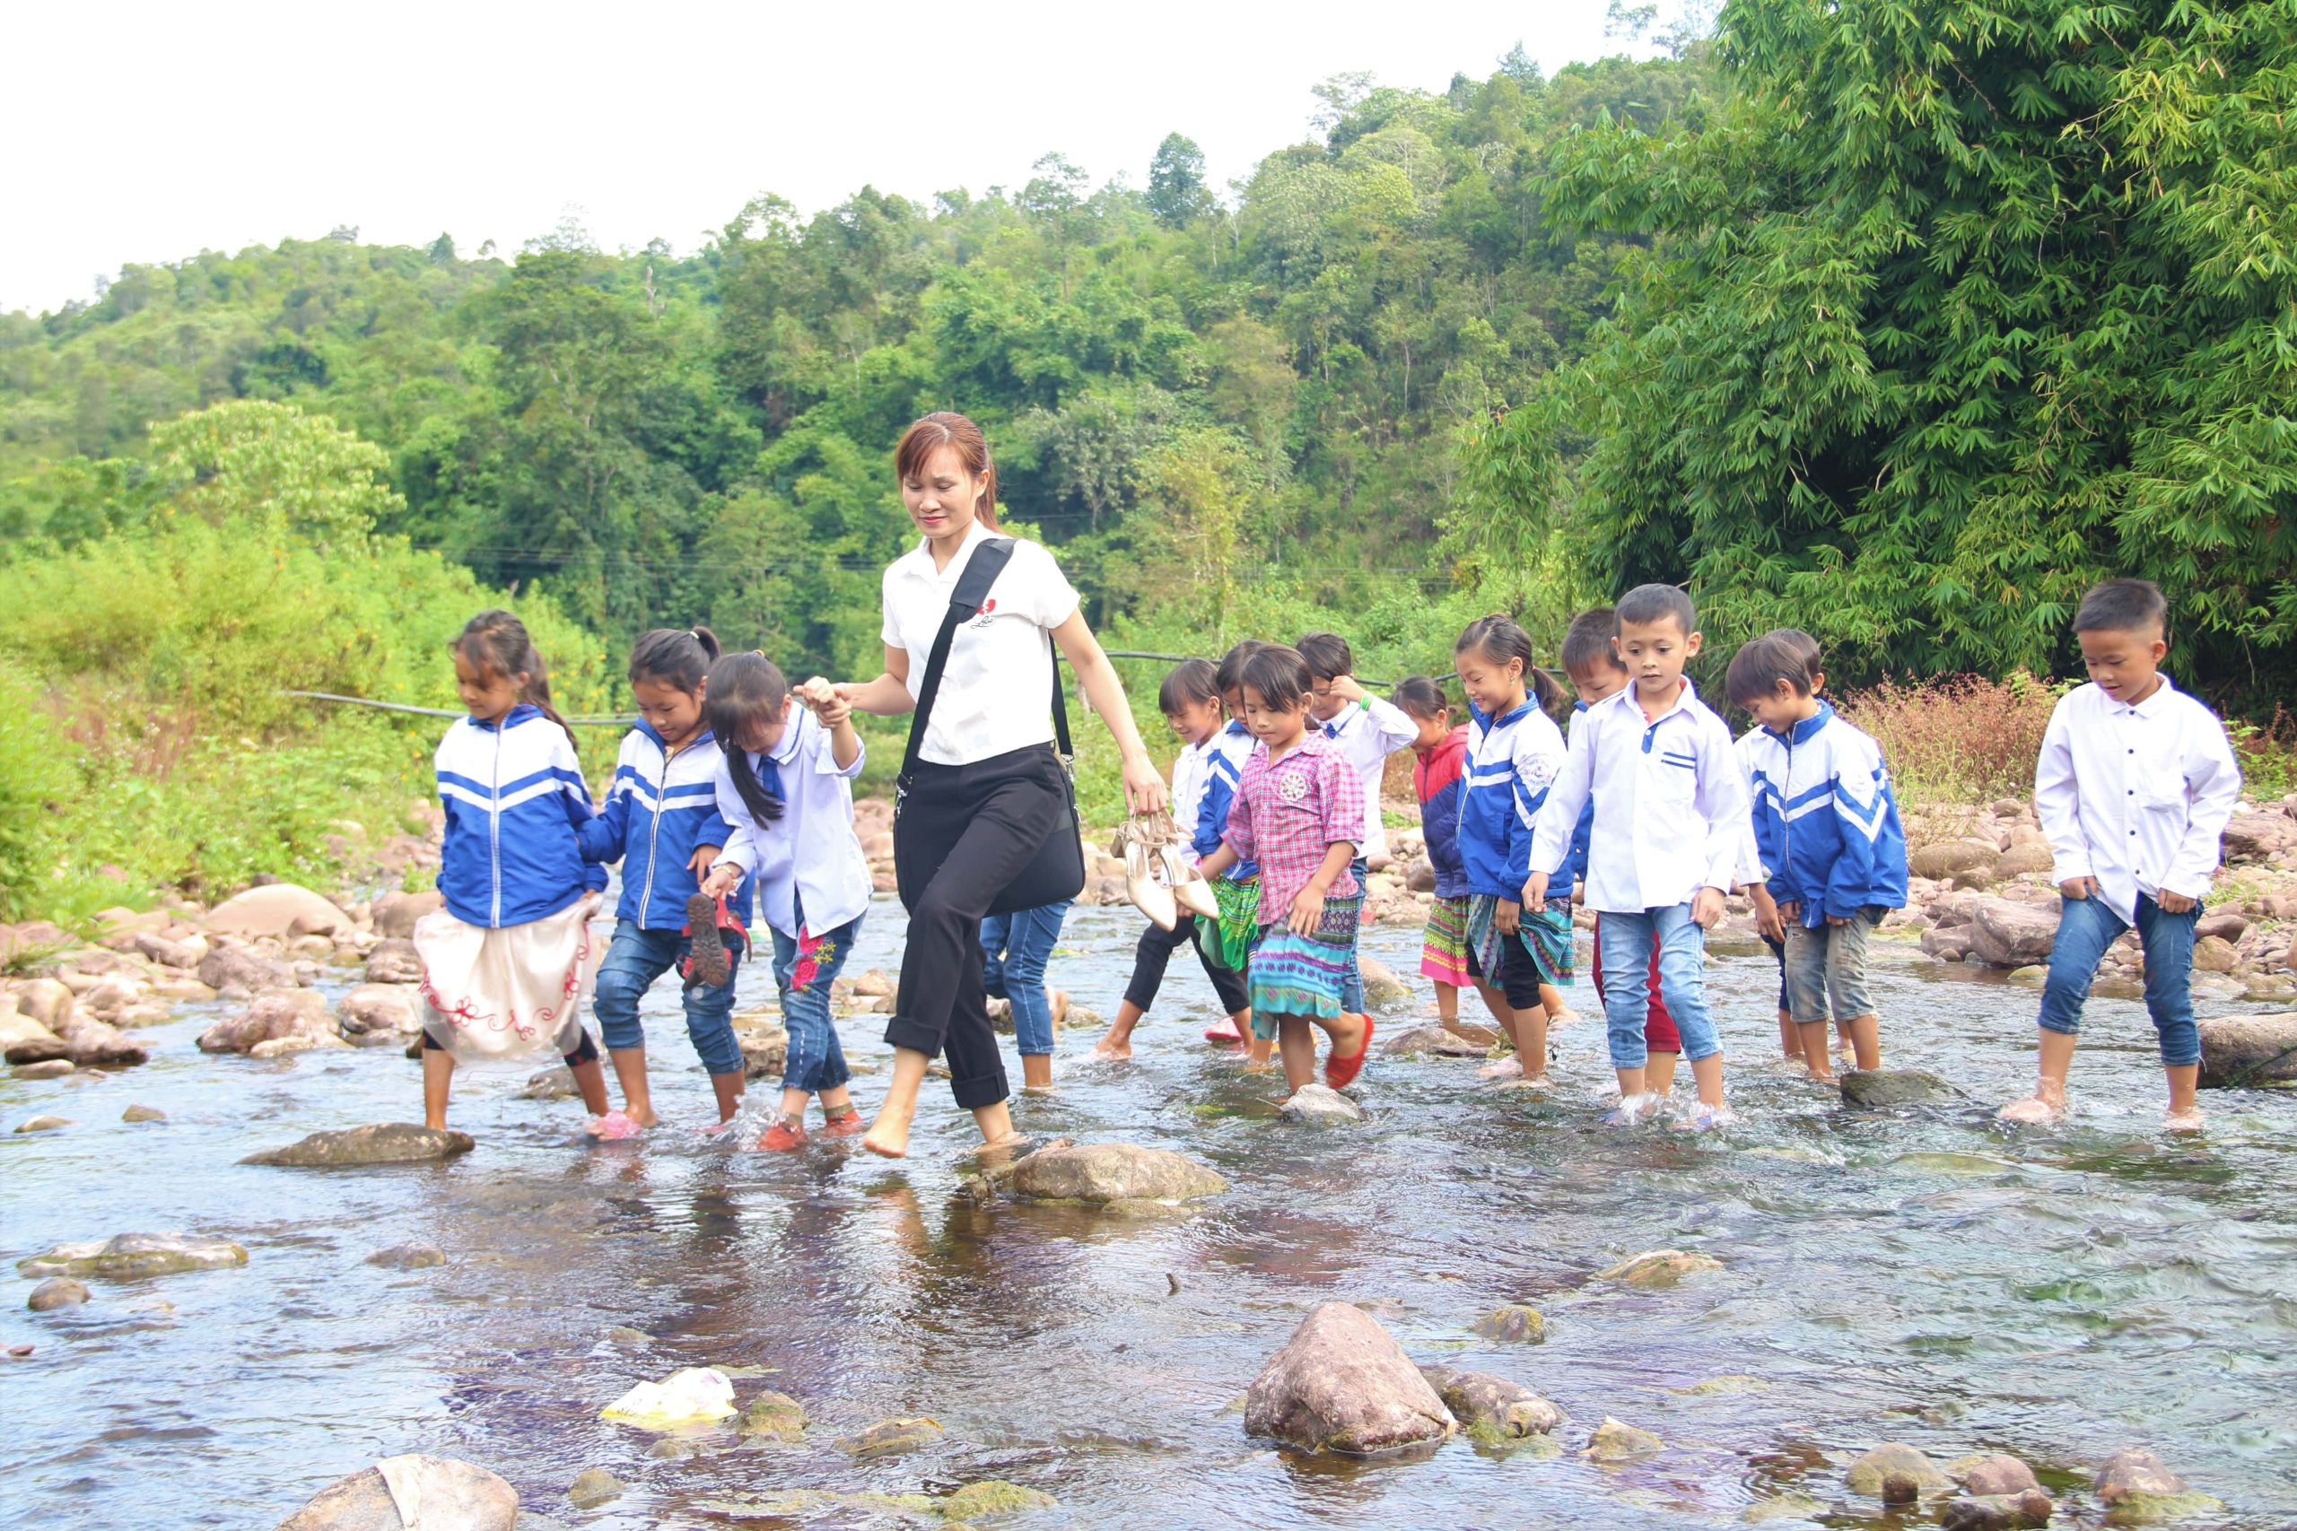
[[[1723,686],[1757,728],[1739,741],[1755,847],[1785,941],[1787,1012],[1812,1079],[1833,1081],[1828,1003],[1858,1067],[1881,1067],[1881,1021],[1865,989],[1867,932],[1907,904],[1907,831],[1881,746],[1817,698],[1817,640],[1776,629],[1732,654]]]

